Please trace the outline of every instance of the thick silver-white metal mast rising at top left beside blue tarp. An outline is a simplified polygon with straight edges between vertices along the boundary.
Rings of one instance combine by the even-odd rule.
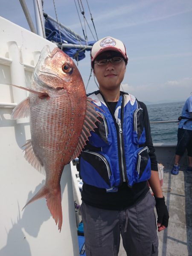
[[[44,16],[41,0],[33,0],[35,9],[35,20],[37,26],[37,34],[45,38],[45,26],[44,26]]]

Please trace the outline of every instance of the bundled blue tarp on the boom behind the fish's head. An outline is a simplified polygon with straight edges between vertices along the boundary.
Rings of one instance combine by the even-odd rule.
[[[45,19],[45,33],[46,38],[49,41],[53,41],[58,44],[81,44],[81,45],[93,45],[96,41],[86,41],[80,36],[77,38],[75,35],[71,34],[69,31],[64,29],[59,25],[59,30],[61,33],[61,39],[58,31],[58,24],[50,20],[49,17]],[[62,40],[62,41],[61,41]],[[76,48],[62,48],[62,50],[67,53],[71,58],[76,61],[80,61],[85,58],[85,49],[76,49]],[[90,51],[90,49],[86,49],[86,51]]]

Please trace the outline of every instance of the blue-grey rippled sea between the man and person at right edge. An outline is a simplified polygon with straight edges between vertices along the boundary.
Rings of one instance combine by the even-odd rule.
[[[185,102],[147,105],[150,122],[177,120]],[[178,122],[151,123],[153,143],[176,143]]]

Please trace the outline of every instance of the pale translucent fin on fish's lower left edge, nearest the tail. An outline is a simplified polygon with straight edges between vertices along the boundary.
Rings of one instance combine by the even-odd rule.
[[[25,146],[24,150],[25,151],[25,159],[35,168],[38,170],[38,172],[41,172],[42,174],[45,174],[44,167],[41,165],[39,162],[38,158],[35,156],[35,153],[32,148],[31,140],[27,140],[26,144],[23,145]]]

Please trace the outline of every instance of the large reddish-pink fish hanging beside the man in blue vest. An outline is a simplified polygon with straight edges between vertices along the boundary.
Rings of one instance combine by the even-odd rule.
[[[46,45],[41,50],[29,87],[13,86],[29,91],[12,112],[12,119],[30,116],[31,139],[24,145],[24,157],[46,175],[44,186],[24,207],[46,198],[61,232],[61,175],[81,153],[100,115],[86,96],[76,64],[58,47],[50,52]]]

